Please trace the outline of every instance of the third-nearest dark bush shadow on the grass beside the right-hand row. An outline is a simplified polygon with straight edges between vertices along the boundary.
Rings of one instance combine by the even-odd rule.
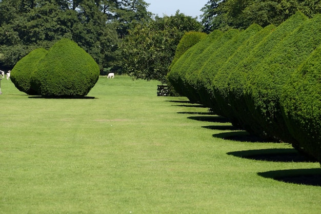
[[[223,126],[224,127],[224,126]],[[214,128],[220,128],[220,127],[214,127]],[[225,129],[225,130],[240,130],[237,129],[234,126],[231,126],[230,128],[234,128],[234,129]],[[221,129],[223,130],[223,129]],[[253,134],[249,134],[247,131],[231,131],[231,132],[224,132],[224,133],[218,133],[218,134],[213,134],[214,138],[222,138],[224,140],[232,140],[232,141],[239,141],[239,142],[252,142],[252,143],[256,143],[256,142],[262,142],[262,143],[266,143],[266,142],[271,142],[269,140],[260,138],[256,135]]]

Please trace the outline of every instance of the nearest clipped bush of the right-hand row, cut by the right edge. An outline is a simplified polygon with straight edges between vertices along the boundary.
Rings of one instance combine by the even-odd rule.
[[[298,149],[321,163],[321,45],[283,89],[282,112]]]

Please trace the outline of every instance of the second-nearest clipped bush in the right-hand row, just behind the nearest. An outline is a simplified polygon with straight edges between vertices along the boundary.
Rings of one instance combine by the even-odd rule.
[[[276,139],[296,143],[280,111],[280,93],[291,73],[321,43],[320,34],[321,16],[305,21],[278,43],[249,76],[245,94],[249,112],[254,116],[252,124],[262,126]]]

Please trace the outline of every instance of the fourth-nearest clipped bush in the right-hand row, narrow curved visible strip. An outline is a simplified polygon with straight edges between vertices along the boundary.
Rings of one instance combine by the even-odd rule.
[[[261,29],[257,25],[253,26],[254,30],[256,28]],[[228,61],[218,70],[217,74],[213,79],[213,91],[216,100],[216,105],[220,113],[229,118],[230,121],[235,126],[240,126],[237,120],[237,116],[234,115],[232,110],[232,106],[229,101],[229,93],[231,83],[229,83],[229,76],[231,75],[232,71],[234,71],[238,64],[242,62],[249,53],[267,37],[275,27],[273,25],[269,25],[264,29],[257,32],[255,35],[249,38],[244,44],[238,47],[237,51],[228,59]]]

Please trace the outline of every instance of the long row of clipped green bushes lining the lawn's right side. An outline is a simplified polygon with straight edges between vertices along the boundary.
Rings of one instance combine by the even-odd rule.
[[[321,162],[321,15],[278,27],[214,31],[172,66],[169,82],[233,125]]]

